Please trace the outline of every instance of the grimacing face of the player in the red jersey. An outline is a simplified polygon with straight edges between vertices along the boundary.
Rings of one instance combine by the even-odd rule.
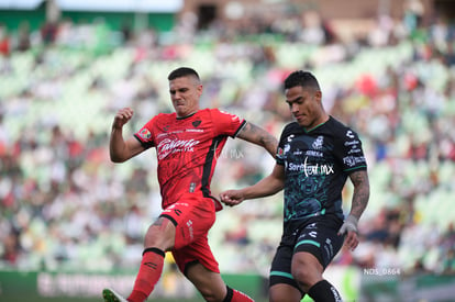
[[[169,81],[170,100],[177,116],[185,118],[199,110],[202,85],[195,77],[180,77]]]

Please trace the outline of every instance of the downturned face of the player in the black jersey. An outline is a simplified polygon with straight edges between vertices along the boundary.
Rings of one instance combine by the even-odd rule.
[[[296,86],[286,89],[285,96],[299,125],[311,130],[325,122],[326,115],[321,104],[321,91]]]

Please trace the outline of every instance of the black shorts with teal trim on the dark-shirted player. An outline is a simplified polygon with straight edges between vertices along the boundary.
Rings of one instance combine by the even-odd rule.
[[[285,227],[271,262],[269,287],[287,283],[299,289],[291,275],[292,256],[298,251],[310,253],[325,269],[343,246],[344,236],[337,235],[342,223],[337,216],[328,214]]]

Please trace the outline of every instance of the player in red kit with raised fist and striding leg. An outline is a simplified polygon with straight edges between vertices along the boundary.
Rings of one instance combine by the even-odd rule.
[[[146,300],[162,275],[167,250],[171,250],[180,271],[207,301],[253,301],[224,283],[210,249],[208,232],[215,221],[215,211],[222,209],[211,195],[210,181],[229,136],[263,146],[274,157],[278,142],[237,115],[200,109],[202,85],[193,69],[177,68],[168,80],[175,113],[154,116],[126,141],[122,128],[133,118],[133,110],[119,110],[112,124],[112,161],[123,163],[151,147],[156,148],[164,211],[145,234],[133,291],[125,300],[112,289],[104,289],[104,301]]]

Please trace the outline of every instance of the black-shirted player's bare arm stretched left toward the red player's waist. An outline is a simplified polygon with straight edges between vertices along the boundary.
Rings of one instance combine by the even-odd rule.
[[[220,193],[221,201],[226,205],[236,205],[247,199],[273,195],[285,187],[285,167],[275,165],[269,176],[257,183],[240,189],[228,190]]]

